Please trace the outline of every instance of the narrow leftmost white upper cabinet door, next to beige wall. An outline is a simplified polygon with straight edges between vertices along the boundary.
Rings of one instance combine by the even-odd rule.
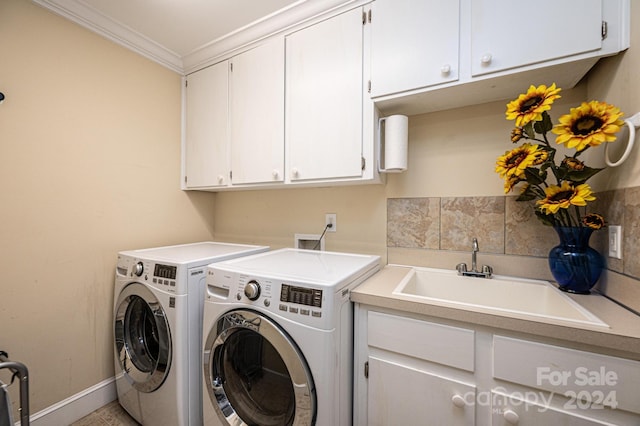
[[[228,64],[187,76],[185,187],[225,186],[229,177]]]

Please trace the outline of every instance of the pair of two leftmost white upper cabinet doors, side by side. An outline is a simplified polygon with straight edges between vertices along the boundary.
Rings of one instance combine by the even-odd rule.
[[[282,37],[190,74],[185,98],[185,188],[283,182]]]

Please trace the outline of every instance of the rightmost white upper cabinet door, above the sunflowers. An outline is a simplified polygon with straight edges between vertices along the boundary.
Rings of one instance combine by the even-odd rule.
[[[474,76],[562,58],[602,46],[602,0],[474,0]]]

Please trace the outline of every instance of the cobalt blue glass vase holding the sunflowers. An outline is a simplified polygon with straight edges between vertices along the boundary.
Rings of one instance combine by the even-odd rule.
[[[560,285],[560,290],[589,294],[604,268],[602,255],[589,247],[593,229],[562,226],[553,229],[560,237],[560,244],[549,252],[551,274]]]

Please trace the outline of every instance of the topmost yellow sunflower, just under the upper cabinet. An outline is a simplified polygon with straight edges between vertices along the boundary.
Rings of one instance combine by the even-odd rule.
[[[507,120],[516,120],[516,127],[524,127],[532,121],[542,120],[542,113],[551,109],[553,101],[560,97],[560,90],[556,88],[555,83],[549,87],[544,84],[538,87],[530,86],[527,93],[507,104]]]

